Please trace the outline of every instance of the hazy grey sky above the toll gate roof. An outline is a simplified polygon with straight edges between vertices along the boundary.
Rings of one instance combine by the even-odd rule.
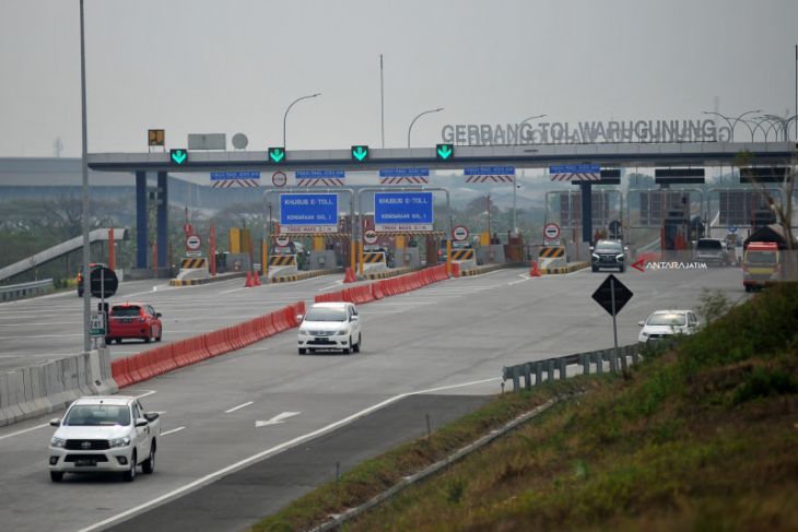
[[[85,0],[89,151],[441,142],[446,123],[795,114],[795,0]],[[78,0],[0,0],[0,156],[79,156]],[[738,133],[741,134],[741,133]]]

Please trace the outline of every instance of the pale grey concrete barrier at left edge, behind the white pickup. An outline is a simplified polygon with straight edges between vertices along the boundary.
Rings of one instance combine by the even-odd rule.
[[[105,348],[4,371],[0,374],[0,426],[60,410],[81,395],[117,390]]]

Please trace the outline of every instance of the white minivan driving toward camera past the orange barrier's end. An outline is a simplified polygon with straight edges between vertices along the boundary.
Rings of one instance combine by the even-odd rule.
[[[300,354],[321,350],[360,353],[363,345],[360,316],[353,303],[316,303],[300,324]]]

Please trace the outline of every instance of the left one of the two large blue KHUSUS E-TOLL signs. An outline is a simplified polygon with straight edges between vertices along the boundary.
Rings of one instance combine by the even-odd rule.
[[[280,194],[280,226],[281,233],[335,233],[338,194]]]

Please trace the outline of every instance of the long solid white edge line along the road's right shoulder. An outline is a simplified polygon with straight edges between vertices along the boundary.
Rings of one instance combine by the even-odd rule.
[[[319,428],[317,430],[314,430],[312,433],[307,433],[307,434],[305,434],[303,436],[297,436],[296,438],[290,439],[289,441],[285,441],[283,444],[278,445],[278,446],[274,446],[271,449],[262,450],[262,451],[260,451],[260,452],[258,452],[256,454],[253,454],[249,458],[245,458],[244,460],[240,460],[240,461],[238,461],[238,462],[236,462],[234,464],[227,465],[226,468],[222,468],[219,471],[214,471],[213,473],[207,474],[207,475],[204,475],[204,476],[202,476],[200,478],[197,478],[193,482],[189,482],[188,484],[185,484],[185,485],[183,485],[183,486],[180,486],[180,487],[178,487],[176,489],[173,489],[172,492],[165,493],[165,494],[163,494],[163,495],[161,495],[159,497],[155,497],[154,499],[150,499],[150,500],[148,500],[145,503],[140,504],[139,506],[136,506],[133,508],[130,508],[129,510],[125,510],[125,511],[122,511],[120,513],[117,513],[116,516],[112,516],[112,517],[109,517],[107,519],[104,519],[104,520],[102,520],[99,522],[96,522],[94,524],[91,524],[91,525],[86,527],[85,529],[81,529],[79,532],[92,532],[94,530],[99,530],[99,529],[102,529],[104,527],[107,527],[108,524],[112,524],[112,523],[116,523],[118,521],[121,521],[125,518],[128,518],[130,516],[134,516],[134,515],[137,515],[138,512],[140,512],[142,510],[145,510],[145,509],[151,508],[151,507],[153,507],[155,505],[159,505],[159,504],[163,503],[164,500],[168,500],[168,499],[172,499],[172,498],[176,498],[177,496],[183,495],[185,493],[188,493],[188,492],[190,492],[191,489],[193,489],[196,487],[200,487],[202,485],[210,484],[210,483],[212,483],[212,482],[221,478],[222,476],[224,476],[224,475],[226,475],[228,473],[233,473],[235,471],[242,470],[242,469],[246,468],[247,465],[250,465],[250,464],[253,464],[253,463],[255,463],[255,462],[257,462],[257,461],[259,461],[259,460],[261,460],[263,458],[267,458],[267,457],[271,457],[273,454],[277,454],[278,452],[281,452],[281,451],[283,451],[285,449],[290,449],[291,447],[294,447],[296,445],[300,445],[300,444],[302,444],[304,441],[308,441],[308,440],[310,440],[313,438],[316,438],[317,436],[320,436],[322,434],[330,433],[330,431],[335,430],[336,428],[339,428],[339,427],[341,427],[343,425],[347,425],[348,423],[351,423],[351,422],[357,419],[359,417],[363,417],[364,415],[371,414],[372,412],[375,412],[375,411],[382,409],[383,406],[386,406],[386,405],[388,405],[390,403],[395,403],[395,402],[397,402],[397,401],[399,401],[401,399],[404,399],[407,397],[410,397],[410,395],[419,395],[419,394],[422,394],[422,393],[431,393],[431,392],[441,391],[441,390],[450,390],[453,388],[462,388],[462,387],[468,387],[468,386],[473,386],[473,385],[481,385],[483,382],[490,382],[490,381],[493,381],[493,380],[501,380],[501,378],[500,377],[494,377],[494,378],[491,378],[491,379],[477,380],[477,381],[473,381],[473,382],[465,382],[465,383],[461,383],[461,385],[443,386],[443,387],[439,387],[439,388],[431,388],[429,390],[420,390],[420,391],[414,391],[414,392],[409,392],[409,393],[401,393],[399,395],[395,395],[392,398],[386,399],[385,401],[383,401],[380,403],[374,404],[374,405],[368,406],[367,409],[364,409],[364,410],[362,410],[362,411],[360,411],[360,412],[357,412],[355,414],[352,414],[349,417],[344,417],[343,419],[339,419],[337,422],[330,423],[329,425],[327,425],[325,427],[321,427],[321,428]]]

